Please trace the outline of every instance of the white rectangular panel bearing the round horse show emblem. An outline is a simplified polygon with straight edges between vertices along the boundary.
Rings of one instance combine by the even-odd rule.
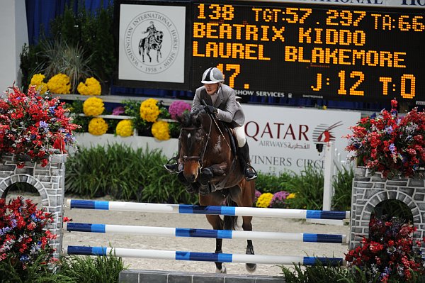
[[[120,79],[183,82],[184,21],[183,7],[122,5]]]

